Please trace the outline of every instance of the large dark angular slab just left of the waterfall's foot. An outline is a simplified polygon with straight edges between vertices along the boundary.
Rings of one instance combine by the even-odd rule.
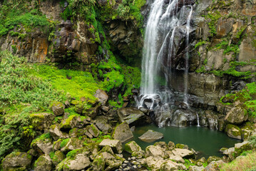
[[[145,114],[138,108],[120,108],[118,111],[118,119],[121,123],[125,122],[130,124],[143,124],[145,123]]]

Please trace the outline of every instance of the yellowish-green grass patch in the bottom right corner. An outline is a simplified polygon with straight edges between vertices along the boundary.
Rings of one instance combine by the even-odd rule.
[[[233,160],[220,167],[221,171],[252,171],[256,169],[256,152],[247,154],[245,157]]]

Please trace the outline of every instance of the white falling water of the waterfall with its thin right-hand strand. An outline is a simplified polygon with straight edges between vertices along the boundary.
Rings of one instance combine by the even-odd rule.
[[[167,8],[164,0],[155,0],[151,4],[148,22],[145,28],[145,40],[143,47],[142,61],[142,79],[139,106],[143,105],[145,99],[154,101],[156,95],[160,96],[163,103],[168,103],[171,95],[170,90],[161,92],[159,79],[160,75],[165,78],[161,81],[161,85],[168,87],[168,78],[171,71],[172,59],[175,57],[175,33],[181,26],[183,15],[188,15],[185,28],[186,46],[189,43],[190,20],[193,13],[193,7],[190,6],[189,14],[185,14],[185,6],[183,6],[178,14],[178,0],[170,0]],[[165,9],[165,11],[163,10]],[[188,104],[188,50],[185,57],[185,76],[184,76],[184,102]],[[150,109],[153,108],[153,104]]]

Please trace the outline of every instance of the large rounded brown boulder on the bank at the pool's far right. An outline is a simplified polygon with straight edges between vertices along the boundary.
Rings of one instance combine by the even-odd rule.
[[[247,113],[245,110],[240,107],[232,108],[226,115],[225,120],[228,123],[240,125],[248,119]]]

